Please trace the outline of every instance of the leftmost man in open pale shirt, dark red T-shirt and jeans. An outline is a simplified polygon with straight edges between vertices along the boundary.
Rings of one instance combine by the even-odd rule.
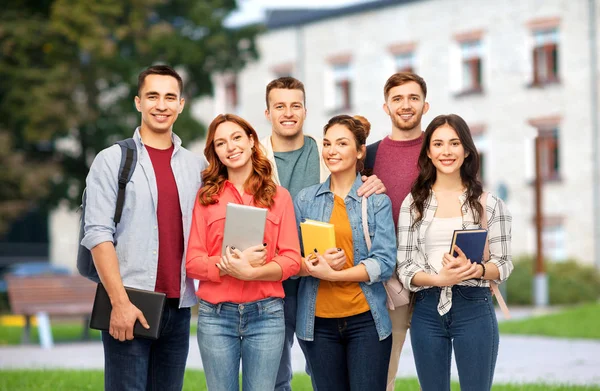
[[[101,151],[86,179],[82,245],[112,304],[110,328],[102,332],[106,390],[181,390],[190,340],[193,281],[185,273],[189,235],[205,160],[181,147],[173,124],[183,110],[181,77],[168,66],[152,66],[138,78],[135,105],[141,126],[133,135],[137,167],[126,186],[118,226],[114,215],[121,150]],[[149,325],[125,286],[165,293],[157,340],[134,338],[133,326]],[[158,325],[152,325],[156,327]]]

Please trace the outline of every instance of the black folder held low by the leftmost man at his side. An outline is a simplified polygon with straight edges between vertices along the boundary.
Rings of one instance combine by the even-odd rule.
[[[160,324],[167,295],[128,287],[125,287],[125,291],[131,303],[142,311],[150,326],[149,329],[146,329],[139,321],[136,321],[133,326],[133,336],[157,339],[160,335]],[[92,316],[90,318],[90,328],[108,331],[111,311],[112,305],[110,304],[108,293],[106,293],[104,285],[100,283],[98,284],[98,288],[96,288],[94,308],[92,309]]]

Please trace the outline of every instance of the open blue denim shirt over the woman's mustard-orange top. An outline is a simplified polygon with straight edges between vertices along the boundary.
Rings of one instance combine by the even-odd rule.
[[[298,193],[294,201],[298,234],[300,222],[304,219],[329,221],[333,210],[333,192],[329,189],[331,177],[321,184],[308,187]],[[352,227],[352,243],[354,245],[354,265],[364,264],[369,281],[359,283],[367,302],[379,339],[387,338],[392,332],[392,324],[386,308],[386,293],[383,281],[392,276],[396,267],[396,236],[392,219],[392,203],[384,194],[373,194],[366,198],[371,251],[367,250],[361,216],[361,197],[356,194],[362,185],[360,175],[352,185],[352,189],[344,199],[350,226]],[[302,235],[300,242],[302,242]],[[302,248],[302,245],[300,246]],[[298,291],[298,312],[296,319],[296,335],[305,341],[314,340],[315,307],[319,279],[303,277],[300,279]]]

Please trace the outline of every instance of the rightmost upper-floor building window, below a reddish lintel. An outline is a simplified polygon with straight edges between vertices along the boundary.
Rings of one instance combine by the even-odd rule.
[[[558,29],[533,32],[533,85],[558,82]]]

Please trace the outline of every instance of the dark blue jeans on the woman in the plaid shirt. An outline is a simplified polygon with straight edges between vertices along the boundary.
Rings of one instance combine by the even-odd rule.
[[[452,348],[462,391],[491,390],[498,357],[498,321],[489,288],[455,285],[452,308],[440,316],[440,288],[415,293],[410,337],[423,391],[449,391]]]

